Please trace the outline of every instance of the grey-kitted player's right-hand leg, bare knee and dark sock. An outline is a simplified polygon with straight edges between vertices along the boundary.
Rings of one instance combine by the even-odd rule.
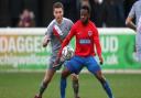
[[[73,81],[73,88],[74,88],[74,97],[79,98],[79,81],[78,81],[78,75],[72,74],[72,81]]]

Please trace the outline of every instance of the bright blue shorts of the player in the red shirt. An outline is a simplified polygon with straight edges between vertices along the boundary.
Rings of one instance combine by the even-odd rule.
[[[88,57],[80,57],[80,56],[74,56],[70,61],[68,61],[66,64],[64,64],[65,67],[70,73],[79,74],[83,67],[87,67],[87,69],[96,74],[98,70],[101,70],[99,64],[95,59],[94,56],[88,56]]]

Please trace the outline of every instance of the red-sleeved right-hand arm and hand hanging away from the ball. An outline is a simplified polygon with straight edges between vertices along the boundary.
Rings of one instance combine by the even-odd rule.
[[[104,59],[102,59],[102,56],[101,56],[101,46],[100,46],[98,30],[97,30],[96,26],[94,26],[94,32],[95,32],[94,42],[95,42],[95,45],[96,45],[97,55],[99,57],[100,64],[102,64]]]

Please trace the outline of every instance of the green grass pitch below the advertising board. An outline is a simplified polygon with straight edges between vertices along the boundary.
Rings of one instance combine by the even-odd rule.
[[[44,73],[0,73],[0,98],[33,98]],[[59,76],[56,74],[43,98],[59,98]],[[141,74],[105,74],[115,98],[141,98]],[[66,98],[73,97],[70,77],[67,79]],[[91,74],[79,75],[82,98],[108,98]]]

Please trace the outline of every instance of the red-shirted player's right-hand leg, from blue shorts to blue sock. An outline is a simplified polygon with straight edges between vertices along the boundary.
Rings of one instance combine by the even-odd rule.
[[[106,90],[108,97],[113,98],[110,86],[101,73],[100,65],[97,63],[97,61],[94,57],[88,58],[87,68],[100,81],[100,84],[102,85],[104,89]]]

